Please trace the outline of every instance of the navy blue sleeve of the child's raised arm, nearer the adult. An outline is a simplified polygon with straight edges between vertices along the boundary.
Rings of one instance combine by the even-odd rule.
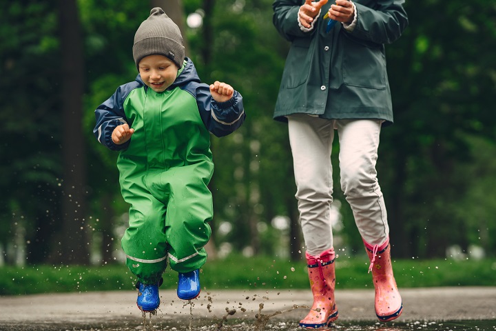
[[[216,137],[231,134],[245,121],[246,114],[242,104],[242,96],[236,90],[231,99],[217,102],[211,97],[207,84],[198,84],[196,103],[203,123]]]

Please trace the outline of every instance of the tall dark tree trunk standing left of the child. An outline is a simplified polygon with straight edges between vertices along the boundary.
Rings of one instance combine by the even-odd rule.
[[[85,225],[85,135],[83,134],[83,47],[75,0],[59,0],[61,32],[61,110],[63,112],[62,235],[59,258],[64,264],[90,261]]]

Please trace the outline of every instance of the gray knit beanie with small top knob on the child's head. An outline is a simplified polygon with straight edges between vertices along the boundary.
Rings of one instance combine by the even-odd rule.
[[[141,23],[134,34],[133,57],[136,68],[143,57],[159,54],[167,57],[178,68],[183,66],[185,48],[183,37],[176,23],[169,19],[162,8],[153,8],[150,16]]]

